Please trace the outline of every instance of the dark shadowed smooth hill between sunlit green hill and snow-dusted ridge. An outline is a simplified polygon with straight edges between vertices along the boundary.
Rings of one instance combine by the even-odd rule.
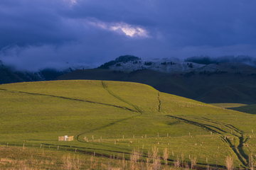
[[[132,73],[106,69],[77,70],[58,77],[67,79],[97,79],[132,81],[148,84],[168,94],[191,98],[204,103],[256,103],[256,79],[252,74],[231,72],[191,72],[167,74],[153,70]]]

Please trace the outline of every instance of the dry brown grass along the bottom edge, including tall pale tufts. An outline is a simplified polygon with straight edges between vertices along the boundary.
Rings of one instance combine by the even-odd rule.
[[[175,167],[166,164],[169,157],[169,151],[166,148],[162,154],[165,163],[163,165],[161,165],[161,157],[156,146],[149,149],[144,158],[139,149],[132,150],[129,161],[125,160],[125,156],[128,155],[117,154],[117,159],[106,159],[77,153],[53,152],[43,147],[41,149],[14,147],[13,150],[11,147],[1,147],[0,169],[181,169],[181,157],[177,157],[174,162]],[[250,155],[248,166],[254,170],[255,162],[252,156],[254,155]],[[196,161],[196,157],[191,157],[191,169],[196,169]],[[226,165],[228,170],[233,169],[232,157],[227,157]],[[183,169],[189,169],[186,162]],[[206,169],[210,167],[207,166]]]

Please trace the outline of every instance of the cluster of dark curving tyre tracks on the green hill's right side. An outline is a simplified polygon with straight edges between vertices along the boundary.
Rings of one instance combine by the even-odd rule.
[[[238,130],[238,128],[235,128],[233,125],[228,125],[228,124],[222,123],[223,125],[225,125],[226,128],[231,127],[232,129],[237,130],[239,132],[239,134],[241,135],[241,137],[240,137],[238,135],[230,134],[234,137],[238,137],[238,139],[239,139],[239,145],[236,147],[235,145],[232,144],[232,142],[228,139],[228,137],[223,136],[222,132],[229,133],[225,130],[222,130],[222,129],[220,129],[218,127],[215,127],[213,125],[198,123],[198,122],[195,122],[195,121],[192,121],[192,120],[186,120],[185,118],[179,118],[179,117],[176,117],[174,115],[166,115],[166,116],[169,116],[171,118],[175,118],[175,119],[178,119],[178,120],[182,120],[184,123],[190,123],[192,125],[196,125],[196,126],[198,126],[200,128],[203,128],[204,130],[209,131],[209,132],[215,132],[216,134],[219,135],[220,140],[222,140],[225,144],[230,146],[230,148],[233,150],[233,152],[237,155],[237,157],[240,160],[240,162],[242,163],[242,165],[247,166],[248,156],[247,156],[247,154],[245,154],[245,152],[243,150],[244,138],[243,138],[243,135],[242,135],[242,131]],[[210,123],[219,124],[219,123],[217,123],[213,120],[210,120],[210,119],[206,119],[206,118],[203,118],[203,119],[208,120],[208,122],[210,122]]]

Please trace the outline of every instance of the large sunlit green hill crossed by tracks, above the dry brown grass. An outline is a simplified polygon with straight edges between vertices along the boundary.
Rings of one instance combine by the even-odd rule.
[[[40,81],[0,86],[1,145],[49,149],[141,162],[157,152],[164,164],[249,167],[256,116],[230,111],[151,86],[119,81]],[[255,131],[256,132],[256,131]],[[58,136],[74,141],[58,142]],[[155,147],[155,149],[154,149]],[[153,148],[153,149],[152,149]],[[132,162],[134,159],[132,159]],[[149,160],[148,160],[149,161]],[[183,163],[183,165],[181,165]],[[0,164],[0,167],[2,164]]]

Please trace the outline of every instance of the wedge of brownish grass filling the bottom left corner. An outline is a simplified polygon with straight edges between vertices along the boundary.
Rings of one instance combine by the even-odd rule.
[[[110,159],[48,148],[0,146],[0,169],[117,169],[120,166],[129,167],[122,155]]]

